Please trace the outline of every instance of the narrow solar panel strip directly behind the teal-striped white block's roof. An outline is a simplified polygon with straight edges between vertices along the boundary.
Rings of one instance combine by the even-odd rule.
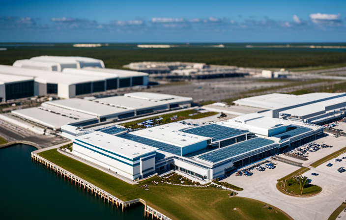
[[[174,146],[174,145],[171,145],[168,143],[163,143],[163,142],[160,142],[157,140],[152,140],[149,138],[143,138],[140,136],[131,135],[129,133],[123,133],[123,134],[117,135],[117,137],[136,141],[138,143],[142,143],[142,144],[152,146],[152,147],[157,147],[157,148],[159,148],[159,150],[166,151],[166,152],[178,155],[178,156],[181,155],[181,148],[180,147],[177,147],[177,146]]]

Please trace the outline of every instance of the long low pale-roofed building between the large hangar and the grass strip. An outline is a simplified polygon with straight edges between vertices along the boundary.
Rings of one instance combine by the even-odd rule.
[[[148,100],[147,97],[153,99]],[[78,98],[48,101],[38,108],[14,110],[12,114],[58,130],[63,125],[86,126],[104,121],[116,121],[137,115],[190,107],[191,103],[192,98],[188,97],[135,92],[92,101]],[[74,135],[75,131],[70,133]]]

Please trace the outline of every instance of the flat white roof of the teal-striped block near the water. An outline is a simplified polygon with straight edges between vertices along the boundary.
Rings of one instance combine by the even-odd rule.
[[[110,150],[116,154],[120,154],[127,158],[136,158],[150,152],[155,152],[158,148],[141,144],[132,140],[119,138],[103,132],[94,132],[76,138],[83,142],[99,146]]]

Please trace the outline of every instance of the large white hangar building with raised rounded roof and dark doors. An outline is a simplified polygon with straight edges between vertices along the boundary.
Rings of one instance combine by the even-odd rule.
[[[30,84],[27,92],[15,90],[14,94],[7,92],[7,96],[0,93],[2,101],[47,94],[68,99],[148,84],[147,73],[108,69],[102,60],[76,56],[38,56],[17,60],[13,66],[0,65],[0,74],[12,76],[12,84],[23,84],[20,77],[33,78],[32,82],[27,83]]]

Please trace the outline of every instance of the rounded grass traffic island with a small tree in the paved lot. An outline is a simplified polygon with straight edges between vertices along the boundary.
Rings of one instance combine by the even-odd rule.
[[[291,195],[291,196],[313,196],[318,194],[322,191],[322,188],[320,188],[317,185],[313,184],[307,184],[303,188],[303,193],[300,194],[300,187],[298,182],[293,178],[294,176],[299,176],[305,173],[306,171],[310,170],[308,167],[302,167],[300,169],[297,169],[296,171],[288,174],[287,176],[281,178],[278,180],[278,183],[276,184],[276,188],[285,194]]]

